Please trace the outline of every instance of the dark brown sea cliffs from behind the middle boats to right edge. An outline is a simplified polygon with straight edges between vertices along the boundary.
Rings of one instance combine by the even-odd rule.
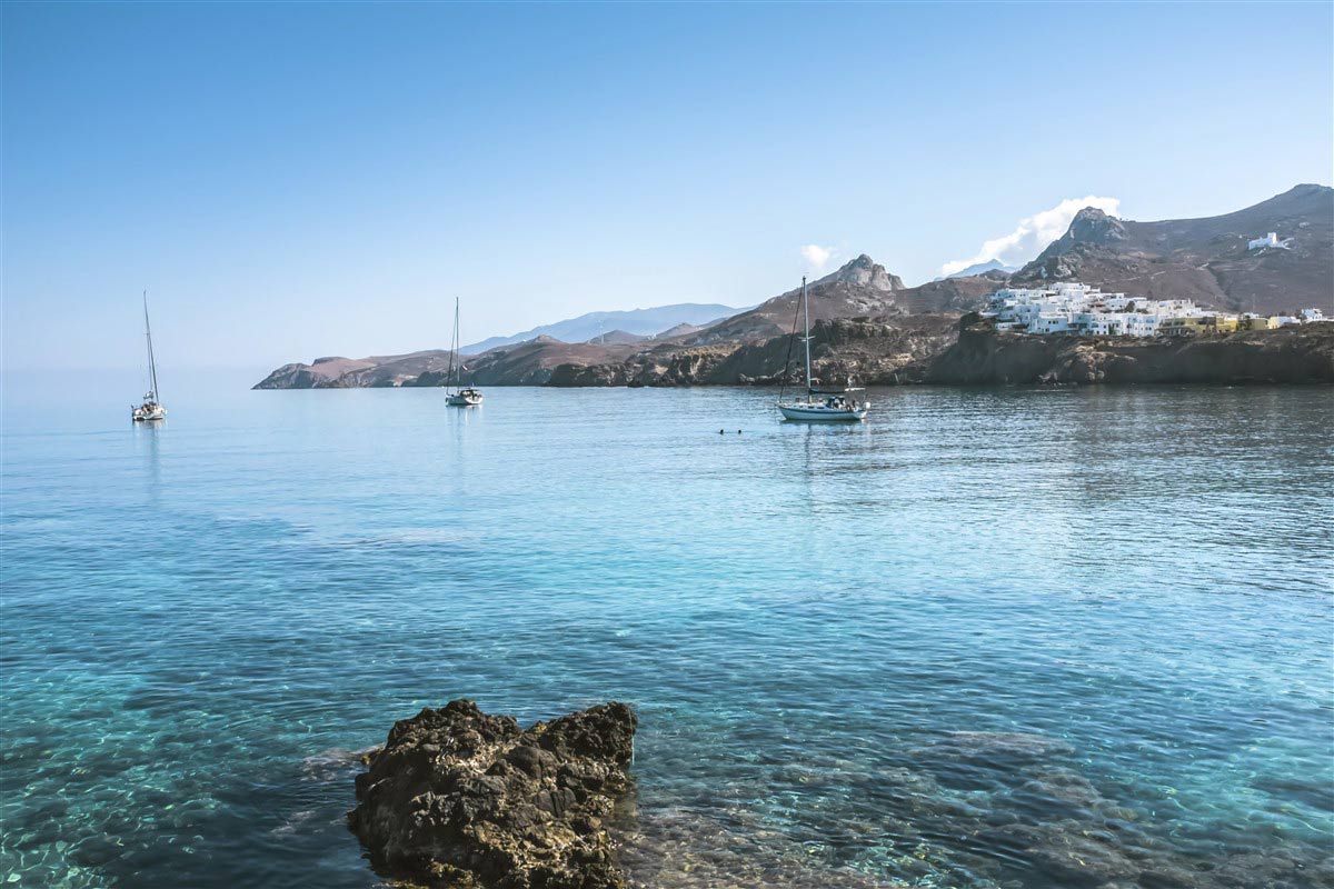
[[[791,337],[662,360],[562,365],[547,385],[774,385]],[[1005,385],[1034,383],[1334,383],[1334,323],[1182,340],[1034,336],[976,315],[820,321],[811,331],[816,383]],[[799,349],[788,381],[804,379]]]

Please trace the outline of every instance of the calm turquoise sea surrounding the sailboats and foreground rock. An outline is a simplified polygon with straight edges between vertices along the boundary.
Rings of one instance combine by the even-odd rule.
[[[17,885],[375,885],[455,697],[638,709],[642,885],[1334,884],[1329,389],[17,389]]]

